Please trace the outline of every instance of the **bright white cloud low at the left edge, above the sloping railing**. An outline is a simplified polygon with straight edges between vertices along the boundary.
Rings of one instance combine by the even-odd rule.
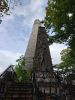
[[[16,64],[16,59],[18,59],[20,55],[20,53],[0,50],[0,73],[2,73],[9,65]]]

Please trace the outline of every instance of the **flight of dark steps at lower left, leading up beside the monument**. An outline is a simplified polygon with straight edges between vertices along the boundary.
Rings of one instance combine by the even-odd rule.
[[[6,91],[3,100],[32,100],[32,83],[14,83]]]

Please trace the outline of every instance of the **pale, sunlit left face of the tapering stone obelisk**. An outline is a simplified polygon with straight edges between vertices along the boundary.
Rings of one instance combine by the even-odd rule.
[[[25,61],[26,66],[31,68],[33,67],[33,58],[35,56],[35,49],[36,49],[36,43],[37,43],[37,35],[38,35],[38,28],[41,26],[41,23],[39,20],[35,20],[32,33],[29,39],[29,43],[27,46],[27,50],[25,53]]]

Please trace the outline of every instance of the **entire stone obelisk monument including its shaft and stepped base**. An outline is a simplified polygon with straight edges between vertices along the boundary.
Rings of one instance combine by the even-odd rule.
[[[53,72],[48,35],[39,20],[34,21],[32,33],[25,53],[25,68],[33,68],[34,94],[44,94],[42,100],[51,99],[51,94],[59,94],[59,85]],[[38,92],[38,93],[37,93]],[[40,96],[41,97],[41,96]],[[49,98],[49,99],[46,99]],[[39,99],[34,99],[39,100]]]

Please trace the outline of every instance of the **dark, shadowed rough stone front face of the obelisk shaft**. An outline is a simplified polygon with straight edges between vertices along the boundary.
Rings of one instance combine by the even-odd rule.
[[[52,71],[52,61],[47,41],[47,34],[45,27],[41,26],[38,28],[34,66],[37,68],[37,70],[40,69],[42,71]]]

